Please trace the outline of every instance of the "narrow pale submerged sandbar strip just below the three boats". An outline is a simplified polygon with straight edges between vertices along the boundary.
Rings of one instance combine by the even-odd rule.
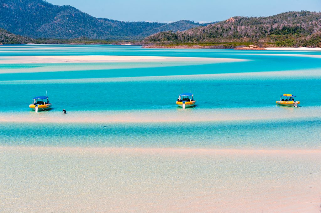
[[[175,104],[175,102],[173,103]],[[321,118],[321,107],[258,107],[229,109],[129,110],[129,111],[67,111],[1,113],[0,122],[42,123],[166,123],[220,122],[250,120],[294,120]]]

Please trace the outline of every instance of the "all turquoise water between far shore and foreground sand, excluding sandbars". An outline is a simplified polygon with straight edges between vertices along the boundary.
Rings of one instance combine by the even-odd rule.
[[[34,113],[28,108],[31,98],[45,95],[47,89],[54,108],[41,113],[61,111],[63,108],[70,115],[75,111],[84,114],[101,111],[108,115],[109,111],[122,114],[130,110],[135,114],[158,109],[175,113],[182,110],[175,105],[181,86],[184,91],[191,90],[197,101],[195,109],[189,109],[190,112],[238,108],[239,114],[242,114],[258,106],[273,109],[278,107],[275,101],[283,93],[297,96],[296,100],[301,101],[301,107],[293,110],[300,110],[303,114],[305,108],[321,106],[321,53],[317,51],[163,50],[112,45],[0,47],[0,62],[6,60],[7,56],[19,58],[34,55],[170,56],[246,61],[206,64],[190,61],[0,63],[0,71],[7,72],[0,74],[2,115],[12,112],[19,112],[21,116]],[[16,73],[8,73],[8,70]],[[21,73],[21,70],[31,71]],[[289,74],[289,71],[296,74]],[[289,112],[286,108],[282,110],[285,114]],[[289,117],[285,120],[226,122],[193,120],[190,123],[39,125],[2,122],[0,144],[320,149],[320,121],[318,115],[311,117],[307,114],[307,118],[301,119]],[[46,140],[37,140],[35,133]]]

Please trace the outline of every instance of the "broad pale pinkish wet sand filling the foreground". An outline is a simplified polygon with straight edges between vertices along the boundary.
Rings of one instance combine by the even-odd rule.
[[[4,212],[318,212],[320,150],[0,147]]]

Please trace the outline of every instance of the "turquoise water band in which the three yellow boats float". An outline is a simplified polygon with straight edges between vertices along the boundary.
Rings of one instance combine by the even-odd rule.
[[[197,107],[243,108],[275,107],[275,101],[287,92],[297,95],[304,106],[319,106],[321,91],[317,79],[291,80],[195,80],[195,81],[144,81],[74,84],[11,84],[1,85],[3,94],[0,111],[30,111],[31,98],[45,95],[48,89],[50,102],[58,110],[105,111],[172,109],[181,92],[181,85],[187,85],[194,93]],[[184,87],[184,88],[185,88]],[[40,89],[39,89],[40,88]],[[299,88],[299,89],[298,89]],[[313,94],[311,95],[311,91]],[[189,91],[188,91],[189,92]],[[8,108],[12,97],[17,102]],[[55,110],[56,110],[55,109]]]

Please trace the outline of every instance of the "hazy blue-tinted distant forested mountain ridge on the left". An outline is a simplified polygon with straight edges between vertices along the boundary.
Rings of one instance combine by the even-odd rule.
[[[163,30],[198,26],[202,25],[193,21],[168,24],[95,18],[72,6],[58,6],[42,0],[0,1],[0,28],[32,38],[143,39]]]

